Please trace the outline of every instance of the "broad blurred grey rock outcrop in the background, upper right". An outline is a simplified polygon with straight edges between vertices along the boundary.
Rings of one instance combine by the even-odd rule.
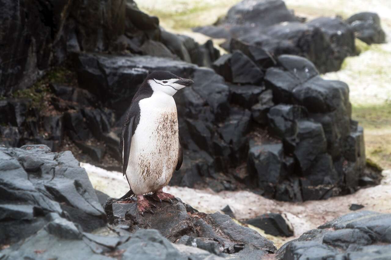
[[[282,0],[243,0],[213,26],[195,28],[210,37],[226,38],[222,47],[237,50],[241,41],[273,57],[294,54],[311,60],[321,73],[337,71],[355,54],[353,28],[340,19],[317,18],[302,23]]]

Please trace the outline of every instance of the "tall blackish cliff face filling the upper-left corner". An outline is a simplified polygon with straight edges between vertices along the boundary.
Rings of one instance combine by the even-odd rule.
[[[1,95],[30,87],[70,51],[104,51],[123,34],[125,1],[2,1]],[[77,35],[77,36],[76,36]],[[3,87],[4,86],[4,87]]]

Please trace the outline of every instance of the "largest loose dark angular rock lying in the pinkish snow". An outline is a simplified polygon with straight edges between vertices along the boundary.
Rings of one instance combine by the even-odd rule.
[[[256,218],[249,219],[246,223],[264,230],[266,234],[282,237],[291,237],[293,235],[293,231],[280,214],[264,214]]]

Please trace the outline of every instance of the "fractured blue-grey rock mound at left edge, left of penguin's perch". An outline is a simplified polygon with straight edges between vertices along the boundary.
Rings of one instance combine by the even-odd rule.
[[[71,152],[57,154],[45,145],[25,145],[0,148],[0,154],[2,242],[29,237],[50,221],[50,214],[85,231],[106,224],[87,173]]]

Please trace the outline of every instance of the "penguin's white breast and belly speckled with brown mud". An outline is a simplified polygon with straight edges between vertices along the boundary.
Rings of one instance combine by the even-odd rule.
[[[136,195],[168,184],[178,162],[178,114],[172,96],[154,92],[140,101],[126,175]]]

